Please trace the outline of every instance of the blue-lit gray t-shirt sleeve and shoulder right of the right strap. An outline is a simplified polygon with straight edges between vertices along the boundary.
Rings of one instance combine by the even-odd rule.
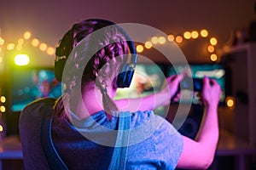
[[[132,117],[128,169],[168,169],[177,167],[183,152],[183,137],[177,129],[153,111],[137,112]],[[154,168],[150,168],[154,167]]]

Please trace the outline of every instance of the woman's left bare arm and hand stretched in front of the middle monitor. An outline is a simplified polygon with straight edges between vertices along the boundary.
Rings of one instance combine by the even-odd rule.
[[[172,96],[177,91],[178,82],[182,78],[183,75],[167,77],[167,85],[159,93],[137,99],[119,99],[115,101],[115,104],[120,111],[148,111],[162,105],[169,105]]]

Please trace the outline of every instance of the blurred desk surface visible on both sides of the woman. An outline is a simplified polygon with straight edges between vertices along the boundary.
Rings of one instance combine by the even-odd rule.
[[[256,149],[247,142],[236,139],[231,133],[220,130],[216,156],[256,155]],[[19,136],[7,137],[0,142],[0,159],[22,159]]]

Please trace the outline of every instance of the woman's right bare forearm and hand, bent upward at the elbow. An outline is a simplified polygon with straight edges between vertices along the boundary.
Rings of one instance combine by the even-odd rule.
[[[218,83],[205,77],[202,91],[205,113],[201,129],[195,140],[183,136],[183,153],[177,167],[207,169],[212,164],[218,144],[219,97],[220,87]]]

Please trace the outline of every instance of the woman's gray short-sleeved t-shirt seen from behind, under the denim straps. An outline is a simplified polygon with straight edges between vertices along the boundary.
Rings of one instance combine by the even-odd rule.
[[[20,138],[26,169],[49,169],[39,140],[43,107],[54,99],[40,99],[21,112]],[[108,121],[104,111],[79,120],[54,119],[52,138],[55,149],[69,169],[108,169],[116,140],[118,118]],[[153,111],[131,115],[126,169],[175,169],[183,151],[182,135]]]

